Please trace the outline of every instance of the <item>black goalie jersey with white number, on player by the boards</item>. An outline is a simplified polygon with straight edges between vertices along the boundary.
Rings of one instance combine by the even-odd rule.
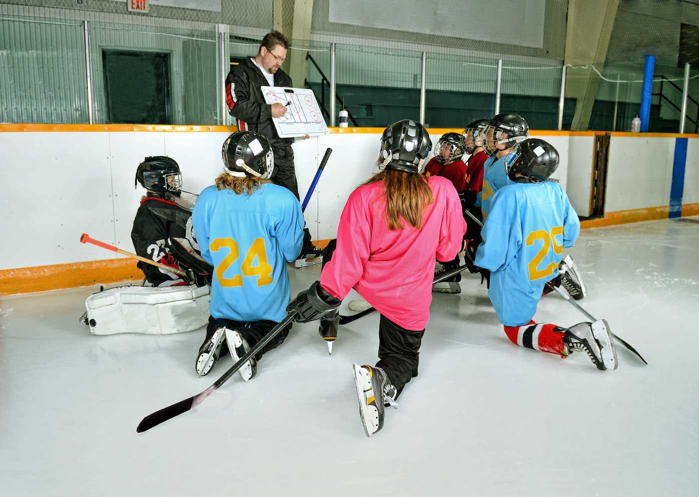
[[[136,254],[173,268],[182,266],[170,253],[168,238],[187,238],[196,247],[192,232],[192,212],[158,196],[146,196],[140,202],[134,228],[131,230]],[[138,268],[154,287],[187,284],[179,275],[165,268],[143,262],[138,263]]]

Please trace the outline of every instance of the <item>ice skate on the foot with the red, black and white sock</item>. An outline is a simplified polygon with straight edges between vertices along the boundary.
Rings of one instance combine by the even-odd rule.
[[[612,331],[605,319],[593,323],[579,323],[565,330],[565,352],[587,352],[593,364],[600,370],[617,369],[617,350]]]

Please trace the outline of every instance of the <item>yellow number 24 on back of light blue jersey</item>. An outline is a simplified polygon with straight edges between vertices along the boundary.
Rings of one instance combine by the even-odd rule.
[[[224,247],[229,249],[229,253],[216,268],[216,278],[222,287],[242,287],[242,276],[235,275],[233,278],[224,278],[224,273],[231,267],[233,261],[238,259],[238,254],[240,254],[236,240],[233,240],[233,238],[216,238],[212,240],[209,249],[211,252],[218,252]],[[257,257],[257,266],[252,265],[255,257]],[[267,262],[264,238],[255,238],[252,245],[250,245],[250,249],[247,250],[247,254],[245,254],[243,264],[240,264],[240,271],[243,273],[243,276],[257,276],[258,287],[263,287],[272,282],[272,265]]]

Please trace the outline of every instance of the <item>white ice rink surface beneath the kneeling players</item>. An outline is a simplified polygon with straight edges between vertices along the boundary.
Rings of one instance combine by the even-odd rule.
[[[570,253],[580,303],[647,359],[617,346],[599,371],[516,347],[480,277],[435,294],[419,377],[366,438],[352,363],[377,357],[378,316],[295,325],[257,377],[234,375],[145,433],[145,415],[208,387],[203,330],[92,336],[82,288],[0,299],[0,494],[14,496],[697,496],[699,218],[582,231]],[[319,266],[289,269],[292,293]],[[343,303],[347,314],[347,302]],[[537,322],[584,321],[556,294]]]

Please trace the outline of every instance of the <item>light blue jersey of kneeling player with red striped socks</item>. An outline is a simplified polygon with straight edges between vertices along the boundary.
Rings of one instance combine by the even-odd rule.
[[[493,197],[481,233],[475,264],[491,271],[488,294],[500,322],[527,324],[559,274],[563,247],[580,233],[575,209],[558,183],[513,183]]]

